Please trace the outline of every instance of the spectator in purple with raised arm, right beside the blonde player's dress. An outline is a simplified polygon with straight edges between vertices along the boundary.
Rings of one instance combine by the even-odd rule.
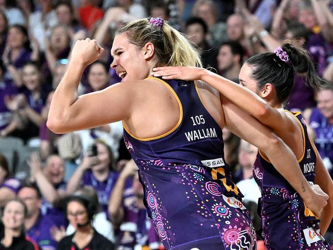
[[[133,160],[126,163],[109,200],[108,211],[119,226],[117,249],[164,249],[143,204],[143,188]]]

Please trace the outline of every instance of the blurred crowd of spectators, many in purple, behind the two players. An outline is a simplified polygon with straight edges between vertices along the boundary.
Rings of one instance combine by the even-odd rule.
[[[0,0],[1,249],[164,249],[121,122],[65,135],[46,127],[75,41],[90,37],[106,49],[84,72],[78,95],[102,90],[120,81],[110,68],[115,31],[143,17],[168,20],[192,41],[205,68],[235,82],[247,58],[273,52],[285,39],[306,48],[329,85],[314,91],[297,75],[285,108],[303,113],[333,176],[333,1]],[[225,129],[223,139],[259,229],[257,149]],[[332,225],[325,238],[333,244]]]

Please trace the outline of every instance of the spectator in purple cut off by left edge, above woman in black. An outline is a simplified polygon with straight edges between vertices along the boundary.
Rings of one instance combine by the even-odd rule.
[[[8,161],[0,154],[0,207],[4,207],[7,201],[15,198],[20,186],[19,180],[10,177]]]

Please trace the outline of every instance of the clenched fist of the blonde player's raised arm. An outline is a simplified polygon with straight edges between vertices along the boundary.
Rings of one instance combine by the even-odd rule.
[[[88,66],[96,61],[103,51],[104,49],[94,39],[77,40],[72,50],[71,60]]]

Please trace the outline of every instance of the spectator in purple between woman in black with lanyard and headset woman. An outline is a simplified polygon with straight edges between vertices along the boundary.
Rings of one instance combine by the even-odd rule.
[[[17,196],[22,199],[27,207],[25,219],[26,234],[35,241],[43,250],[55,249],[51,244],[51,227],[54,222],[48,216],[41,215],[41,194],[34,184],[23,185]]]

